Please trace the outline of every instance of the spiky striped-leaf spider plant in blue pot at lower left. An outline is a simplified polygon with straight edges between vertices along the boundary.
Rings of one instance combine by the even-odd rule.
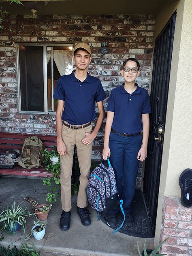
[[[0,222],[2,222],[2,228],[12,234],[16,232],[20,227],[25,232],[26,228],[26,216],[34,215],[30,213],[26,207],[20,207],[20,204],[15,206],[15,201],[11,208],[8,206],[0,214]]]

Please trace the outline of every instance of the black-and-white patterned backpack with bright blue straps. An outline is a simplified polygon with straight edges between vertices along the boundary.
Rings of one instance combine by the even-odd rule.
[[[101,163],[99,166],[92,171],[88,186],[87,186],[87,198],[91,207],[99,213],[107,213],[113,209],[116,209],[120,205],[120,209],[124,215],[125,214],[122,207],[123,200],[119,200],[119,195],[117,192],[115,173],[113,167],[107,158],[107,164]],[[122,228],[124,221],[119,228]],[[115,233],[117,230],[113,231]]]

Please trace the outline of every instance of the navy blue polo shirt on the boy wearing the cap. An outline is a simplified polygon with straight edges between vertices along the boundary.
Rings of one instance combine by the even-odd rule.
[[[95,101],[102,101],[106,96],[98,78],[87,73],[87,78],[81,82],[74,72],[58,79],[53,98],[64,100],[62,120],[81,125],[95,119]]]

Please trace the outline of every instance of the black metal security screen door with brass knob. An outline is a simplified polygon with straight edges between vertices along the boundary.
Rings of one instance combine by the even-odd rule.
[[[154,49],[154,64],[150,94],[152,113],[150,116],[149,143],[143,183],[143,194],[153,233],[155,232],[158,205],[175,19],[176,12],[172,15],[158,38],[156,38]]]

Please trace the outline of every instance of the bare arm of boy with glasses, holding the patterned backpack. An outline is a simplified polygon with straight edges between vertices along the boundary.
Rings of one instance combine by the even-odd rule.
[[[105,139],[104,139],[104,148],[102,151],[102,158],[104,160],[107,160],[108,156],[111,156],[111,151],[109,148],[109,135],[111,132],[111,126],[113,123],[113,118],[114,118],[114,112],[107,111],[107,120],[106,120],[106,125],[105,125]]]

